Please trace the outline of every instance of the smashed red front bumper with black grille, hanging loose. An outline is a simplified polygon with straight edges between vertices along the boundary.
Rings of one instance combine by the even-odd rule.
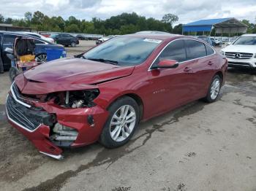
[[[100,106],[64,109],[52,103],[23,101],[13,85],[7,95],[6,113],[12,126],[23,133],[39,152],[58,160],[63,158],[60,147],[80,147],[97,141],[108,117],[108,112]],[[61,137],[61,133],[54,133],[56,125],[74,129],[78,132],[75,139],[56,140],[56,137]]]

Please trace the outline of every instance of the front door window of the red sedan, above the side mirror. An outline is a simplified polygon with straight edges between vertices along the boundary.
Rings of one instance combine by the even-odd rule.
[[[171,42],[157,58],[157,63],[162,60],[186,61],[186,50],[184,40]]]

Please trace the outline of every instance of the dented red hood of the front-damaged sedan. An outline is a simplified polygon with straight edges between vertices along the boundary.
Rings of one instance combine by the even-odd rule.
[[[46,94],[64,90],[97,88],[100,82],[127,77],[134,66],[115,66],[81,58],[43,63],[15,78],[21,93]]]

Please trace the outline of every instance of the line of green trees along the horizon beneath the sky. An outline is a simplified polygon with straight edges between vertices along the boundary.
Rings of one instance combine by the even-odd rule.
[[[0,14],[0,23],[8,23],[13,26],[29,27],[35,31],[53,31],[69,32],[84,34],[132,34],[138,31],[166,31],[173,34],[182,33],[182,24],[173,27],[173,23],[178,21],[178,16],[165,14],[162,20],[153,17],[146,18],[135,12],[122,13],[121,15],[110,17],[106,20],[93,17],[89,20],[79,20],[70,16],[67,20],[63,17],[49,17],[42,12],[26,12],[23,18],[12,19],[5,18]],[[250,23],[249,20],[241,20],[248,26],[247,33],[256,33],[256,24]],[[212,36],[214,31],[212,31]]]

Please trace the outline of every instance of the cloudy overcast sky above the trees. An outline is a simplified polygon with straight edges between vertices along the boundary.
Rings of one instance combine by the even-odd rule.
[[[24,12],[41,11],[45,15],[67,19],[108,18],[121,12],[161,19],[165,13],[178,15],[178,23],[195,20],[236,17],[255,23],[256,0],[0,0],[0,14],[20,18]]]

